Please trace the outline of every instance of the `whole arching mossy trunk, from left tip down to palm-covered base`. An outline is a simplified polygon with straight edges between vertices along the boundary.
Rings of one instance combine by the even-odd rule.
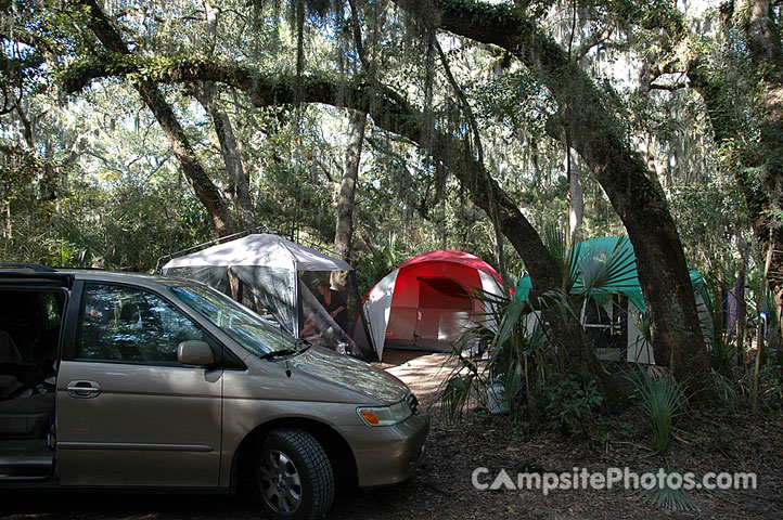
[[[104,57],[112,60],[112,56]],[[138,63],[98,61],[73,65],[66,75],[64,89],[76,92],[90,79],[113,75],[132,74]],[[322,79],[303,77],[294,81],[291,76],[278,78],[258,77],[253,70],[226,64],[202,61],[179,61],[163,68],[155,77],[164,83],[216,81],[223,82],[245,92],[258,107],[294,103],[324,103],[336,107],[350,108],[372,117],[375,125],[397,133],[419,145],[428,144],[427,153],[434,160],[448,168],[460,183],[471,193],[471,199],[487,214],[497,214],[501,232],[525,262],[535,284],[535,291],[559,289],[562,273],[538,232],[519,210],[516,203],[486,171],[484,164],[476,160],[464,140],[445,134],[426,127],[427,118],[410,106],[398,93],[378,83],[371,87],[354,87],[333,83]],[[296,84],[296,87],[294,87]],[[490,198],[493,195],[493,198]],[[602,389],[608,389],[607,400],[618,402],[612,380],[602,369],[590,346],[581,335],[578,320],[570,313],[552,320],[555,340],[562,352],[567,352],[570,367],[581,377],[598,377]]]

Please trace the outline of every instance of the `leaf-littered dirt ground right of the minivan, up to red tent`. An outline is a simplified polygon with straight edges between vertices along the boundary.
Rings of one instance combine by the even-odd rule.
[[[413,358],[393,353],[385,366],[429,404],[433,431],[428,452],[411,494],[389,497],[388,512],[377,518],[781,518],[783,516],[783,415],[780,411],[752,418],[746,412],[692,410],[680,424],[682,433],[667,456],[653,455],[652,435],[636,407],[604,419],[604,434],[574,439],[557,432],[528,437],[480,410],[459,424],[441,419],[433,400],[448,374],[440,354]],[[472,485],[477,467],[491,482],[501,469],[514,480],[518,472],[573,472],[573,468],[606,472],[629,467],[642,473],[671,468],[693,472],[754,472],[756,490],[692,491],[688,510],[652,505],[639,492],[626,490],[478,491]],[[401,492],[401,490],[400,490]],[[387,493],[394,493],[388,490]],[[408,503],[408,511],[400,506]],[[420,511],[416,515],[415,511]],[[394,512],[392,512],[394,511]],[[373,518],[357,509],[335,508],[335,518]],[[409,516],[407,516],[409,515]]]

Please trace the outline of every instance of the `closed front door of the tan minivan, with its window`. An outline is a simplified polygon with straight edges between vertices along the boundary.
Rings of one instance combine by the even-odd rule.
[[[79,288],[75,288],[75,292]],[[63,485],[217,486],[222,369],[184,366],[178,346],[215,346],[159,295],[85,284],[57,374]]]

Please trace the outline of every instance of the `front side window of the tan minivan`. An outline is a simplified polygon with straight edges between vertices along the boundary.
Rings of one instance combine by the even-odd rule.
[[[133,287],[86,284],[76,359],[179,365],[181,341],[205,341],[202,329],[158,296]]]

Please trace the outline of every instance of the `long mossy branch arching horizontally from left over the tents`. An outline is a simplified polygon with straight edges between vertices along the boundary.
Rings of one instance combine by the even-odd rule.
[[[63,73],[62,84],[66,92],[76,93],[91,81],[108,77],[169,84],[215,81],[244,92],[257,107],[322,103],[367,113],[378,128],[402,135],[419,145],[427,143],[429,150],[426,152],[449,168],[471,191],[477,206],[491,214],[495,204],[501,230],[525,260],[534,282],[539,287],[556,287],[559,284],[556,269],[553,269],[551,256],[538,233],[484,165],[473,157],[470,150],[465,150],[465,143],[435,128],[424,128],[422,113],[387,87],[354,84],[322,77],[272,77],[236,64],[195,58],[166,62],[158,58],[152,62],[118,54],[72,65]],[[424,139],[425,135],[429,139]],[[490,199],[492,194],[495,200]]]

